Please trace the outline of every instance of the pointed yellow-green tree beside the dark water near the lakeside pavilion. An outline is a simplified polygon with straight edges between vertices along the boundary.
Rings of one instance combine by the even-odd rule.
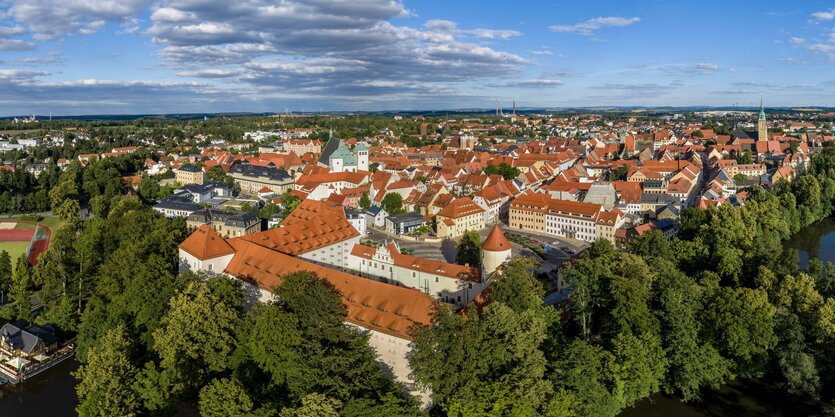
[[[81,417],[136,416],[139,396],[132,384],[137,373],[130,360],[130,341],[123,327],[108,331],[99,345],[90,350],[87,363],[75,377]]]

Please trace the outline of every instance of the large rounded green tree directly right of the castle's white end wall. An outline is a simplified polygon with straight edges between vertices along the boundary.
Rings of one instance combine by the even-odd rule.
[[[499,302],[483,316],[441,311],[415,337],[415,379],[450,416],[537,415],[552,392],[540,350],[546,328],[539,311],[517,313]],[[482,352],[479,360],[474,352]]]

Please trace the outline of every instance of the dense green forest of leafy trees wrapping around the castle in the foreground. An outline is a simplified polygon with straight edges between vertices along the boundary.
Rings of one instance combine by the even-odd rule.
[[[63,225],[31,273],[0,259],[14,270],[3,281],[10,297],[36,293],[36,321],[77,333],[81,416],[424,413],[376,366],[367,336],[343,325],[339,295],[315,275],[285,276],[280,301],[246,311],[235,281],[179,274],[184,222],[125,195],[121,176],[142,157],[30,182],[31,193],[49,190],[39,204]],[[625,252],[596,242],[562,271],[573,287],[564,311],[543,304],[525,258],[487,305],[439,311],[417,329],[411,359],[432,412],[615,416],[655,392],[695,401],[730,378],[767,378],[831,404],[835,267],[801,270],[782,241],[832,214],[835,147],[795,182],[748,192],[741,207],[685,210],[671,241],[653,232]],[[87,205],[93,215],[81,221]]]

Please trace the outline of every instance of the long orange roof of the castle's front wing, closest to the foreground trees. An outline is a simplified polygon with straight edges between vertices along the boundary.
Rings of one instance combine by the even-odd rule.
[[[329,282],[342,295],[349,323],[413,340],[412,331],[432,322],[436,303],[428,295],[396,285],[361,278],[247,242],[232,239],[237,252],[226,267],[228,274],[271,290],[284,275],[310,271]]]

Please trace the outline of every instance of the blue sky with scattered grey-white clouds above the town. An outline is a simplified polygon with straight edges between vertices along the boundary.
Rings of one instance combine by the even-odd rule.
[[[835,1],[0,0],[0,116],[835,106]]]

